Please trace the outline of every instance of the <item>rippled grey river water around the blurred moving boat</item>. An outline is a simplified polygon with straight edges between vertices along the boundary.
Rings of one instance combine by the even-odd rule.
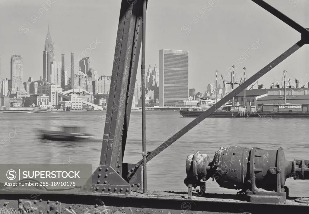
[[[0,113],[1,164],[99,164],[105,112]],[[155,149],[194,118],[179,112],[146,112],[147,151]],[[239,145],[262,149],[283,148],[286,159],[308,158],[307,118],[206,118],[147,165],[149,190],[187,191],[185,162],[189,154],[200,151],[212,160],[225,146]],[[54,129],[62,125],[85,126],[95,140],[69,143],[38,139],[36,129]],[[14,134],[14,132],[16,134]],[[142,159],[142,113],[132,112],[124,162]],[[286,180],[291,196],[309,197],[309,181]],[[211,182],[208,192],[235,193]]]

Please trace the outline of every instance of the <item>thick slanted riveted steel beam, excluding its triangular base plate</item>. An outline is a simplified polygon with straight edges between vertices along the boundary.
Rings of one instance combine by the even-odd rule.
[[[122,0],[100,165],[122,164],[137,72],[142,27],[142,1]],[[129,89],[129,90],[128,90]],[[125,135],[125,136],[124,136]]]

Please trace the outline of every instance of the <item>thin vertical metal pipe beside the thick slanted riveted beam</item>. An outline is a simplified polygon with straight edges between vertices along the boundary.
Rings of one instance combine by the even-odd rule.
[[[146,90],[146,83],[145,83],[145,50],[146,50],[146,5],[147,0],[143,1],[143,24],[142,24],[142,142],[143,142],[143,188],[144,194],[147,193],[147,152],[146,152],[146,106],[145,106],[145,90]]]

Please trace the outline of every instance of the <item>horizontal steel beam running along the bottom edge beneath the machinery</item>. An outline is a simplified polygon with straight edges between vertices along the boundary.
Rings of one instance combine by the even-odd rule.
[[[31,213],[30,211],[34,208],[36,210],[34,213],[38,214],[40,210],[43,211],[42,213],[46,213],[47,211],[49,214],[103,214],[105,212],[102,211],[106,209],[110,209],[108,213],[116,214],[294,214],[308,213],[309,211],[307,204],[291,204],[291,202],[289,204],[249,203],[241,200],[233,200],[224,194],[210,194],[208,195],[209,199],[188,200],[181,197],[184,195],[181,192],[178,194],[170,193],[174,195],[174,198],[171,195],[156,195],[156,193],[152,193],[151,197],[75,194],[69,196],[61,194],[3,195],[3,192],[0,193],[0,207],[3,210],[22,207],[26,211],[24,213]],[[216,198],[220,200],[216,200]],[[23,206],[21,206],[22,204]]]

